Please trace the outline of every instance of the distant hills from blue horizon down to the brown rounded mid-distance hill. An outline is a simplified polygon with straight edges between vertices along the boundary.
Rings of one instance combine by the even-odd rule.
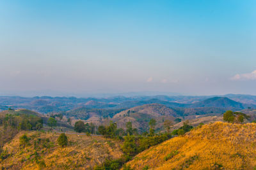
[[[254,96],[229,95],[239,101],[253,101]],[[251,98],[250,98],[251,97]],[[205,96],[138,96],[108,98],[76,98],[76,97],[0,97],[0,110],[27,109],[38,113],[63,115],[72,118],[72,125],[77,120],[92,122],[96,125],[113,120],[119,127],[125,128],[132,122],[140,132],[148,130],[151,118],[157,121],[156,130],[163,129],[164,120],[180,118],[181,120],[200,117],[220,116],[227,110],[243,110],[254,118],[255,104],[241,103],[228,97]]]

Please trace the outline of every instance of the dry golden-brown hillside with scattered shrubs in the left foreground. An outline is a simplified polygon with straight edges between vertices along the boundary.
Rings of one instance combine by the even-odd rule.
[[[67,134],[68,146],[57,145],[60,134],[54,132],[27,132],[29,145],[20,146],[20,132],[4,145],[5,159],[0,159],[0,169],[93,169],[106,158],[122,156],[120,143],[100,136],[77,136]]]

